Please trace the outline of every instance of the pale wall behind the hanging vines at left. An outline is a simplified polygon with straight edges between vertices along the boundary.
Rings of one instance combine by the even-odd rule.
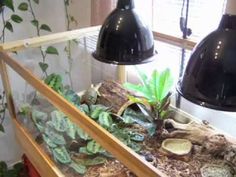
[[[30,37],[36,36],[35,28],[32,27],[30,24],[30,21],[32,20],[31,15],[28,12],[21,12],[17,10],[18,5],[23,2],[23,0],[14,0],[15,2],[15,9],[16,13],[23,17],[24,21],[21,24],[14,24],[14,33],[6,32],[6,41],[14,41],[19,39],[26,39]],[[63,0],[53,0],[53,1],[40,1],[39,5],[36,5],[32,2],[34,5],[33,8],[35,8],[35,14],[39,21],[41,23],[48,24],[53,32],[62,32],[66,31],[66,18],[65,18],[65,7],[64,7],[64,1]],[[82,28],[90,26],[90,0],[73,0],[73,5],[70,6],[70,14],[75,17],[75,19],[78,21],[78,26],[73,26],[73,28]],[[11,12],[6,11],[7,18],[9,18]],[[6,18],[6,19],[7,19]],[[2,28],[2,21],[0,21],[0,29]],[[47,32],[42,34],[49,34]],[[64,48],[62,46],[57,46],[59,50],[63,51]],[[86,56],[84,52],[77,52],[73,54],[76,59],[80,60],[80,58],[85,58]],[[31,66],[38,62],[38,58],[40,58],[40,54],[37,50],[27,51],[25,53],[19,53],[17,56],[14,56],[17,59],[19,59],[24,65],[27,65],[30,67],[31,70],[34,70]],[[65,55],[60,55],[58,61],[55,61],[52,63],[54,67],[51,68],[51,70],[54,70],[56,67],[60,65],[60,67],[64,67],[62,62],[64,60]],[[50,57],[50,60],[53,60],[54,57]],[[50,63],[52,61],[49,61]],[[74,68],[73,75],[76,77],[78,81],[76,82],[78,88],[87,87],[91,83],[91,76],[87,75],[87,77],[83,77],[85,73],[90,73],[90,65],[89,61],[82,61],[85,63],[83,66],[75,66],[77,68]],[[87,65],[86,65],[87,64]],[[17,88],[17,90],[21,90],[23,92],[25,85],[22,84],[22,80],[17,79],[18,77],[13,73],[10,72],[10,76],[12,78],[12,84],[13,84],[13,92],[14,89]],[[19,84],[21,83],[21,84]],[[0,83],[0,86],[2,84]],[[15,138],[14,138],[14,132],[13,127],[11,125],[11,121],[9,117],[7,117],[7,120],[4,123],[4,127],[6,129],[6,133],[3,134],[0,132],[0,161],[4,160],[7,161],[8,164],[12,164],[16,161],[18,161],[21,157],[21,150],[18,146]]]

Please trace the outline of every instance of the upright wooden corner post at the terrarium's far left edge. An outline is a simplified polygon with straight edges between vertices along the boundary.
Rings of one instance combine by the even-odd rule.
[[[15,106],[13,103],[10,80],[7,73],[6,63],[3,61],[3,59],[0,59],[0,73],[1,73],[1,78],[2,78],[2,84],[6,93],[7,108],[11,117],[15,118],[16,113],[15,113]]]

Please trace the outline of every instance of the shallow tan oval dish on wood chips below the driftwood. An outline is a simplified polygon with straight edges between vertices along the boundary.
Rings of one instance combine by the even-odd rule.
[[[192,149],[192,143],[187,139],[169,138],[162,142],[161,149],[169,155],[188,155]]]

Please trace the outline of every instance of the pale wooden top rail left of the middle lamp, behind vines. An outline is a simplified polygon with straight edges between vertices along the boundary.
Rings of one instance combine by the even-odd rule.
[[[95,26],[79,30],[54,33],[40,37],[7,42],[5,44],[0,44],[0,51],[12,52],[12,51],[23,50],[26,48],[35,48],[35,47],[40,47],[42,45],[51,45],[55,43],[65,42],[72,39],[91,36],[93,33],[99,31],[99,29],[100,26]]]

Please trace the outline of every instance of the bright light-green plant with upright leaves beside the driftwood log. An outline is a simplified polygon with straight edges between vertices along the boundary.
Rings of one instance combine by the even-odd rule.
[[[137,97],[130,96],[130,99],[136,103],[141,103],[140,109],[145,110],[145,113],[152,118],[151,121],[161,122],[169,113],[171,88],[174,83],[171,72],[169,69],[162,72],[154,70],[150,78],[138,68],[137,72],[141,84],[124,84],[125,88],[139,95]],[[150,106],[150,110],[143,106],[147,104]]]

